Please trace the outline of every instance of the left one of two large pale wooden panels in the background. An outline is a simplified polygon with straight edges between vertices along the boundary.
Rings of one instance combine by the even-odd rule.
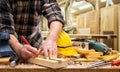
[[[90,28],[91,34],[99,34],[99,10],[93,10],[77,16],[77,31],[81,28]]]

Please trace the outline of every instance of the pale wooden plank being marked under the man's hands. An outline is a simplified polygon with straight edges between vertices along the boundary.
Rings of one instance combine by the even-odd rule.
[[[28,60],[29,63],[57,69],[57,68],[63,68],[66,67],[67,61],[65,59],[44,59],[44,58],[30,58]]]

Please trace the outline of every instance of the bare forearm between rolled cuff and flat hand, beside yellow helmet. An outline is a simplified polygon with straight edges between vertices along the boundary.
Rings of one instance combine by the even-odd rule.
[[[51,22],[49,34],[48,34],[46,40],[50,39],[52,41],[57,42],[57,39],[59,37],[61,30],[62,30],[62,23],[61,22],[59,22],[59,21]]]

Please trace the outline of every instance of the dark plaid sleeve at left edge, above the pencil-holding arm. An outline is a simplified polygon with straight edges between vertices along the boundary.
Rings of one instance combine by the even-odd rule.
[[[0,31],[15,34],[14,22],[6,0],[0,0]]]

